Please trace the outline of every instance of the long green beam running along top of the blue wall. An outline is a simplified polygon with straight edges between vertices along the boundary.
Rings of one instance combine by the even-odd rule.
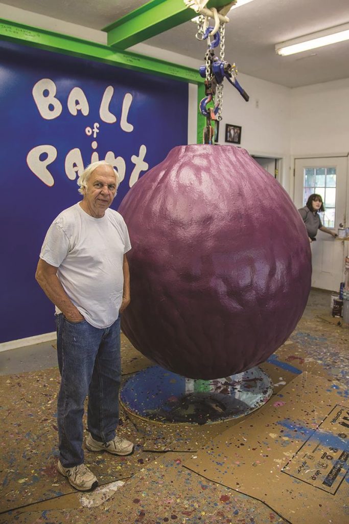
[[[164,60],[144,57],[129,51],[118,51],[99,43],[18,24],[2,18],[0,18],[0,40],[95,60],[124,69],[132,69],[133,71],[157,74],[172,80],[194,84],[202,83],[202,79],[196,69]]]

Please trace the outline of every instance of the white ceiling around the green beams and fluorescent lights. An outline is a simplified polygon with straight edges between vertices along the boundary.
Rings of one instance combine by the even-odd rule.
[[[5,0],[5,4],[102,29],[144,0]],[[1,16],[1,13],[0,13]],[[254,0],[229,13],[226,55],[240,72],[290,88],[349,78],[349,41],[279,57],[275,44],[349,22],[348,0]],[[203,59],[206,43],[187,22],[144,43]]]

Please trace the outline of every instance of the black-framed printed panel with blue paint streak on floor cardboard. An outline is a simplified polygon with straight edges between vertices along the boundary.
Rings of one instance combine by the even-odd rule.
[[[349,408],[336,405],[282,472],[335,495],[349,466]]]

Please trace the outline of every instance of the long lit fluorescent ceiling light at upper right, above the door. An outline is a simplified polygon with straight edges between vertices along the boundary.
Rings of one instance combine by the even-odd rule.
[[[277,54],[280,54],[280,56],[286,57],[289,54],[301,53],[302,51],[309,51],[317,47],[330,46],[332,43],[343,42],[344,40],[349,40],[349,24],[331,27],[330,29],[314,32],[311,35],[277,43],[275,51]]]

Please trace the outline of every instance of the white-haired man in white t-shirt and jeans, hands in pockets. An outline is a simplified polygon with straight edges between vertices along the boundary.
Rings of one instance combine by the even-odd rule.
[[[94,489],[84,465],[83,413],[88,395],[86,447],[128,455],[133,444],[116,435],[121,378],[120,313],[130,302],[122,216],[108,209],[119,184],[114,168],[94,162],[77,181],[83,200],[60,213],[44,239],[36,279],[55,305],[61,373],[58,396],[58,471],[79,490]]]

